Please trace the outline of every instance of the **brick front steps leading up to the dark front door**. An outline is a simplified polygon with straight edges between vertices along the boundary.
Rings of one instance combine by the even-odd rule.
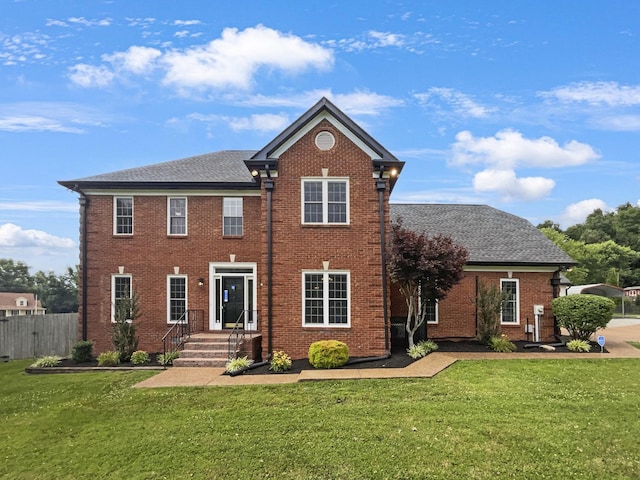
[[[196,333],[191,335],[180,350],[174,367],[224,368],[228,359],[228,333]]]

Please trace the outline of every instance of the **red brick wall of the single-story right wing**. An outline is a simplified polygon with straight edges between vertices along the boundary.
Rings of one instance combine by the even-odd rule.
[[[476,334],[475,292],[476,277],[485,284],[500,285],[500,279],[508,279],[508,272],[471,272],[464,274],[462,281],[453,287],[449,295],[438,305],[438,324],[427,326],[429,338],[474,337]],[[513,271],[512,279],[519,280],[520,287],[520,324],[501,325],[502,332],[511,340],[533,340],[525,333],[527,318],[533,324],[534,305],[544,306],[542,317],[542,340],[553,338],[553,316],[551,300],[553,290],[551,278],[553,272],[517,272]],[[394,317],[405,317],[407,307],[398,286],[391,285],[391,311]]]

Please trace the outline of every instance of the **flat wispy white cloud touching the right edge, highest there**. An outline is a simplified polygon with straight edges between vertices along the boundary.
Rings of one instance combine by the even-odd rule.
[[[586,102],[610,107],[640,105],[640,86],[617,82],[577,82],[538,95],[561,102]]]

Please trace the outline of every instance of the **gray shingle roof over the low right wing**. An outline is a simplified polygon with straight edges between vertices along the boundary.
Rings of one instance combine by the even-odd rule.
[[[414,231],[453,238],[468,250],[469,264],[575,263],[527,220],[487,205],[391,204],[390,212]]]

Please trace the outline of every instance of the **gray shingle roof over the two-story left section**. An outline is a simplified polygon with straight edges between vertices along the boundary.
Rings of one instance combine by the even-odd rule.
[[[61,183],[251,183],[254,179],[244,160],[255,153],[255,150],[222,150]]]

